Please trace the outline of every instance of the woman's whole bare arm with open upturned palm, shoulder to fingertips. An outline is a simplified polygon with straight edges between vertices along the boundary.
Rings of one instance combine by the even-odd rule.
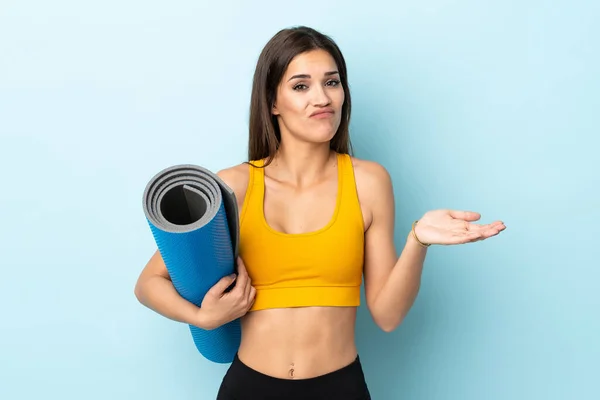
[[[400,257],[394,246],[395,202],[388,172],[373,162],[359,162],[357,187],[369,220],[365,232],[365,292],[375,323],[393,331],[411,309],[430,245],[456,245],[485,240],[506,227],[501,221],[474,224],[476,212],[433,210],[407,227]]]

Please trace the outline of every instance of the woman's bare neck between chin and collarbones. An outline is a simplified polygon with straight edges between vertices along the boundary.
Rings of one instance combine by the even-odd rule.
[[[333,152],[326,143],[281,143],[273,159],[272,172],[276,179],[298,186],[310,185],[329,172]],[[267,167],[267,168],[269,168]]]

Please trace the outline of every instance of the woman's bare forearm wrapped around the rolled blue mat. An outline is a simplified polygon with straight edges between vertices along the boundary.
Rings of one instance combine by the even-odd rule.
[[[203,327],[200,308],[187,301],[165,277],[154,275],[138,282],[135,295],[140,303],[171,320]]]

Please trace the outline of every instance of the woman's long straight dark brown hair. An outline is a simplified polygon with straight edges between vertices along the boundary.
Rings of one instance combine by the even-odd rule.
[[[250,102],[248,161],[266,158],[264,164],[266,166],[273,160],[281,142],[279,124],[271,113],[277,87],[295,56],[316,49],[322,49],[331,54],[337,64],[344,89],[342,118],[338,130],[330,142],[330,148],[338,153],[350,154],[352,152],[348,132],[351,100],[344,56],[329,36],[315,29],[299,26],[277,32],[265,45],[258,58]]]

